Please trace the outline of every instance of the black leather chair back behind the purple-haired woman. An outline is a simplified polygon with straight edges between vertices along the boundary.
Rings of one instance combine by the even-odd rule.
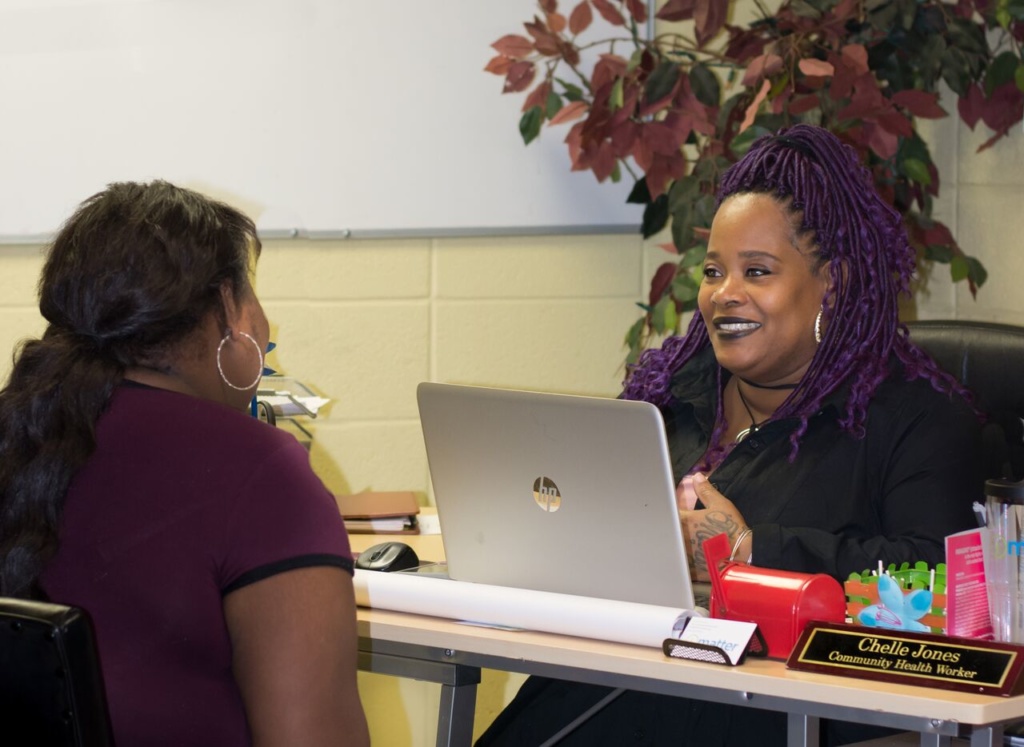
[[[909,322],[910,339],[975,395],[985,476],[1024,479],[1024,327],[991,322]]]

